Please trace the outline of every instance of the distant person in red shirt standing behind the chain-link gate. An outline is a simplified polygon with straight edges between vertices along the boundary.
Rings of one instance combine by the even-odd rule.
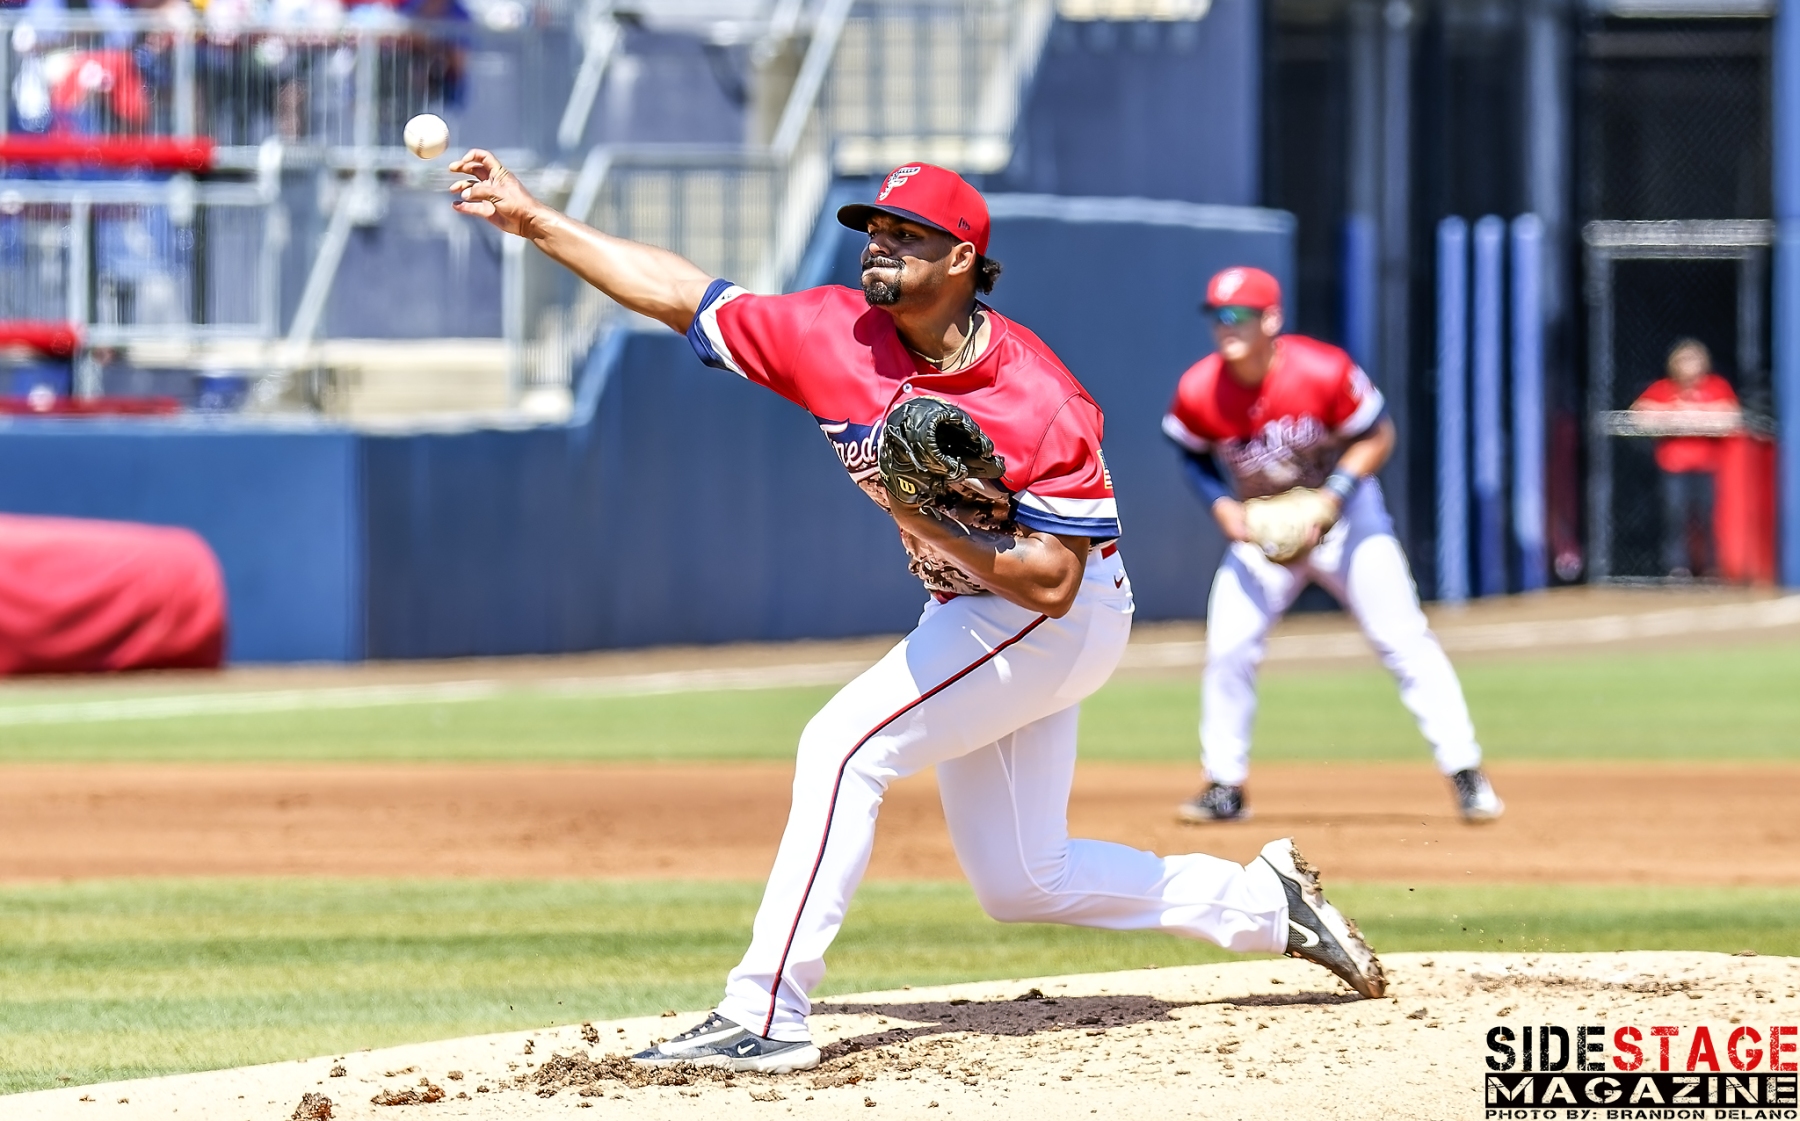
[[[1634,412],[1741,414],[1732,383],[1712,371],[1712,351],[1701,340],[1683,338],[1669,347],[1667,371],[1631,403]],[[1712,565],[1712,479],[1719,452],[1715,435],[1656,441],[1656,466],[1663,473],[1663,570],[1678,579]]]

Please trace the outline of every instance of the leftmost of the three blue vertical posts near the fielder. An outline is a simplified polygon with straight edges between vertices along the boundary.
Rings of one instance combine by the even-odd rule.
[[[1469,599],[1469,223],[1438,223],[1438,599]]]

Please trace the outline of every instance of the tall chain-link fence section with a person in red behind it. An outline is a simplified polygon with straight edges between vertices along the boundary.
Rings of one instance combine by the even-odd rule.
[[[1769,20],[1652,14],[1577,27],[1588,574],[1760,578],[1773,565]],[[1633,408],[1651,387],[1672,392],[1681,340],[1710,354],[1741,423],[1705,416],[1694,389],[1672,410]]]

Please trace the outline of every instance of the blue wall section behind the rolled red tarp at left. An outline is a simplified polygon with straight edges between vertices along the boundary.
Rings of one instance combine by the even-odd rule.
[[[169,421],[0,423],[0,509],[185,525],[225,570],[236,662],[364,657],[356,437]]]

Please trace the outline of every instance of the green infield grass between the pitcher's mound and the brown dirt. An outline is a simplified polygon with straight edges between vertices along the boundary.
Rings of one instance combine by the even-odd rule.
[[[758,891],[481,880],[0,889],[0,1092],[704,1008],[742,950]],[[1800,954],[1800,889],[1332,894],[1390,952]],[[869,883],[824,991],[1226,957],[1159,934],[1003,927],[963,883]]]

